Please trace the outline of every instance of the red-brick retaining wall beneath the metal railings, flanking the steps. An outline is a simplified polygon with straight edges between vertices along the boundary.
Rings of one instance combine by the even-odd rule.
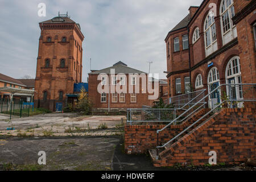
[[[255,116],[254,109],[223,109],[172,144],[169,154],[167,151],[160,153],[162,160],[154,160],[154,166],[174,166],[175,163],[195,166],[208,164],[210,151],[216,151],[217,163],[234,164],[245,162],[247,158],[255,158]],[[129,141],[128,144],[143,148],[144,144],[152,143],[151,138],[155,138],[155,126],[144,127],[146,128],[140,129],[141,126],[132,126],[132,129],[126,129],[126,145]],[[140,131],[140,134],[136,134],[136,131]],[[138,142],[138,137],[142,134],[144,140]],[[168,130],[165,134],[168,135]],[[173,135],[171,133],[166,137],[170,139]],[[126,152],[132,153],[131,148],[128,149],[130,152]]]

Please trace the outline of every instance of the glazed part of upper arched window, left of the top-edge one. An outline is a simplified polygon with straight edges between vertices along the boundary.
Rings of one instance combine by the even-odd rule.
[[[214,16],[207,15],[204,23],[204,33],[205,33],[205,47],[212,46],[214,42],[217,40],[216,35],[216,24],[214,20]]]

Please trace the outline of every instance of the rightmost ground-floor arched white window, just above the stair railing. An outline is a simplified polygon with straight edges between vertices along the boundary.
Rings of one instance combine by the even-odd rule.
[[[232,57],[226,66],[226,83],[242,84],[240,57],[238,56]],[[230,95],[229,87],[227,94]],[[231,94],[234,100],[242,98],[242,86],[231,86]]]

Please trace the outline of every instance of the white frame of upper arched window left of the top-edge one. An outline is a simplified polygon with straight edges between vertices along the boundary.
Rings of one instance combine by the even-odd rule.
[[[209,19],[210,18],[210,19]],[[209,20],[211,21],[210,24],[209,23]],[[213,40],[213,27],[215,28],[214,30],[214,40]],[[209,40],[210,40],[210,44],[207,45],[207,31],[209,31]],[[216,23],[215,23],[215,20],[214,20],[214,16],[210,17],[210,15],[208,14],[207,15],[207,18],[205,18],[205,21],[204,21],[204,40],[205,40],[205,49],[208,49],[209,47],[212,47],[213,44],[215,42],[217,42],[217,32],[216,32]]]

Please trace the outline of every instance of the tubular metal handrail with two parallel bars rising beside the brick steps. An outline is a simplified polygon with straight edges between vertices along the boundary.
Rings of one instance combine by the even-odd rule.
[[[163,129],[160,129],[160,130],[157,130],[156,131],[156,134],[157,134],[157,145],[159,144],[159,133],[160,131],[163,131],[165,130],[168,126],[170,126],[173,122],[175,122],[177,119],[179,119],[180,117],[182,117],[185,113],[187,113],[189,110],[191,110],[193,107],[195,107],[197,104],[199,104],[201,101],[203,101],[205,98],[209,97],[212,93],[216,92],[217,89],[219,89],[221,86],[225,86],[225,85],[229,85],[229,86],[242,86],[242,85],[255,85],[256,84],[221,84],[219,86],[217,86],[217,88],[213,89],[212,92],[208,93],[206,96],[204,96],[203,98],[201,98],[200,101],[198,101],[195,105],[193,105],[192,107],[190,107],[187,111],[185,111],[183,114],[181,114],[179,117],[177,117],[176,119],[174,119],[174,121],[170,122],[168,125],[166,125],[165,127],[163,127]],[[198,119],[196,122],[194,122],[192,125],[190,125],[189,127],[187,127],[187,129],[181,131],[180,134],[176,135],[174,138],[172,138],[171,140],[169,140],[167,143],[165,143],[163,146],[156,146],[157,148],[157,158],[158,158],[158,155],[159,155],[159,148],[163,148],[165,147],[167,144],[169,144],[170,142],[172,142],[173,140],[175,140],[177,137],[179,137],[181,134],[183,134],[185,131],[187,131],[188,129],[190,129],[192,126],[194,126],[197,122],[201,121],[201,119],[203,119],[204,117],[206,117],[209,113],[211,113],[213,110],[215,110],[217,107],[219,107],[221,104],[223,104],[224,102],[231,102],[231,105],[232,105],[232,97],[230,100],[225,100],[225,101],[222,101],[220,104],[218,104],[216,107],[214,107],[213,109],[211,109],[207,114],[203,115],[203,117],[201,117],[200,119]],[[240,100],[240,101],[256,101],[256,100]],[[193,112],[192,112],[193,113]],[[189,114],[188,116],[192,115]],[[187,116],[187,117],[188,117]]]

